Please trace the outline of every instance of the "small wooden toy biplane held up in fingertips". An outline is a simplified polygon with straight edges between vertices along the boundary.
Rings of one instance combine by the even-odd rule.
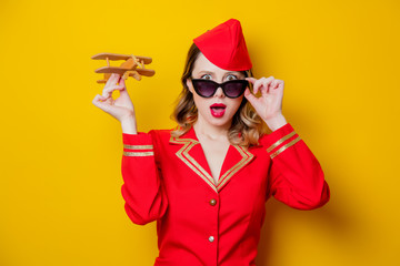
[[[142,75],[152,76],[154,75],[154,70],[146,69],[144,64],[151,63],[152,59],[147,57],[136,57],[133,54],[117,54],[117,53],[98,53],[91,57],[94,60],[107,60],[107,66],[97,69],[96,73],[104,73],[103,80],[98,80],[98,83],[106,83],[110,79],[111,73],[117,73],[122,75],[123,80],[127,80],[128,76],[133,76],[136,80],[140,81]],[[111,66],[110,60],[126,60],[120,66]]]

